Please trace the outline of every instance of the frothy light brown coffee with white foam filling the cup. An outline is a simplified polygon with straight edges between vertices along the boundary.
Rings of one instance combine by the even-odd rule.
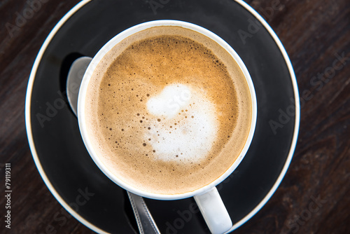
[[[241,69],[215,41],[162,26],[127,37],[99,62],[86,95],[94,151],[143,191],[179,194],[220,177],[251,126]]]

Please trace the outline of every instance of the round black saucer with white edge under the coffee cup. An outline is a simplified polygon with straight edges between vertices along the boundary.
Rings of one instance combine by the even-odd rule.
[[[29,79],[26,123],[34,161],[55,198],[86,226],[98,233],[138,232],[125,191],[88,155],[64,90],[77,57],[93,57],[124,29],[160,19],[193,22],[218,34],[237,51],[253,79],[258,100],[253,142],[237,170],[218,186],[234,230],[265,205],[281,182],[295,149],[300,115],[295,76],[283,46],[242,1],[78,4],[48,36]],[[161,233],[209,233],[193,198],[146,202]]]

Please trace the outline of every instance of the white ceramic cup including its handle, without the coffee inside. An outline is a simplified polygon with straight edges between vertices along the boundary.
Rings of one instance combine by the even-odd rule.
[[[114,46],[118,45],[120,41],[123,41],[123,39],[126,39],[128,36],[131,36],[132,34],[135,34],[137,32],[141,32],[144,29],[148,29],[151,27],[158,27],[158,26],[178,26],[183,27],[186,29],[191,29],[195,32],[198,32],[200,34],[203,34],[204,36],[209,37],[210,39],[216,41],[221,47],[225,48],[225,50],[232,55],[232,57],[235,59],[239,67],[241,68],[241,71],[243,71],[244,77],[246,78],[246,82],[248,83],[248,88],[250,90],[251,94],[251,106],[252,106],[252,116],[251,116],[251,128],[248,134],[248,138],[246,139],[246,144],[244,145],[243,150],[241,151],[239,157],[235,160],[235,163],[231,165],[231,167],[223,172],[221,177],[218,177],[215,181],[211,182],[211,184],[208,184],[207,186],[203,186],[202,188],[199,188],[195,191],[191,191],[188,193],[181,193],[181,194],[157,194],[157,193],[149,193],[146,191],[141,191],[139,188],[132,186],[131,184],[127,184],[121,179],[116,176],[116,174],[113,174],[107,167],[102,163],[102,160],[100,160],[99,156],[97,155],[96,151],[93,149],[91,144],[91,138],[87,134],[87,123],[85,121],[85,97],[87,95],[87,88],[89,85],[90,78],[92,76],[92,73],[94,69],[97,67],[97,64],[102,60],[104,55],[109,52]],[[94,163],[97,164],[100,170],[106,174],[109,179],[111,179],[113,182],[118,184],[120,187],[125,188],[127,191],[130,191],[132,193],[135,193],[137,195],[141,195],[146,198],[153,198],[158,200],[177,200],[182,198],[190,198],[194,197],[195,201],[197,202],[198,207],[200,207],[200,211],[202,212],[202,215],[204,217],[204,220],[206,221],[209,229],[211,230],[211,233],[225,233],[226,231],[230,230],[232,227],[232,221],[230,219],[230,215],[228,214],[227,209],[225,208],[225,205],[223,204],[223,201],[221,200],[221,197],[218,193],[218,190],[216,189],[216,185],[221,183],[225,178],[227,178],[241,163],[241,160],[244,158],[246,151],[248,151],[248,147],[251,144],[251,140],[253,139],[253,132],[255,130],[255,123],[256,123],[256,115],[257,115],[257,106],[256,106],[256,97],[255,97],[255,90],[253,87],[253,82],[251,81],[251,76],[248,73],[248,70],[246,69],[246,66],[242,62],[241,58],[235,50],[232,49],[232,47],[223,41],[219,36],[214,34],[213,32],[210,32],[208,29],[204,29],[203,27],[200,27],[198,25],[194,25],[189,22],[183,22],[178,20],[156,20],[151,22],[145,22],[140,25],[136,25],[134,27],[131,27],[129,29],[126,29],[125,31],[121,32],[117,36],[114,36],[113,39],[111,39],[108,43],[106,43],[101,50],[95,55],[92,59],[92,61],[89,64],[89,67],[87,67],[87,70],[85,71],[85,74],[83,76],[83,81],[80,85],[79,95],[78,95],[78,123],[80,128],[81,136],[83,137],[83,142],[85,144],[85,147],[87,148],[87,151],[90,153],[90,156],[94,160]]]

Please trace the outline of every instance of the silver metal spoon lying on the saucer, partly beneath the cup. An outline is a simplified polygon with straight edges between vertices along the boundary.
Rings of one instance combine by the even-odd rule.
[[[68,78],[66,81],[66,94],[69,105],[76,116],[80,83],[91,60],[91,57],[80,57],[74,61],[73,64],[71,64],[71,68],[69,69]],[[148,210],[144,198],[134,193],[130,193],[129,191],[127,191],[127,196],[130,199],[140,233],[160,234],[160,231],[158,230],[158,227]]]

